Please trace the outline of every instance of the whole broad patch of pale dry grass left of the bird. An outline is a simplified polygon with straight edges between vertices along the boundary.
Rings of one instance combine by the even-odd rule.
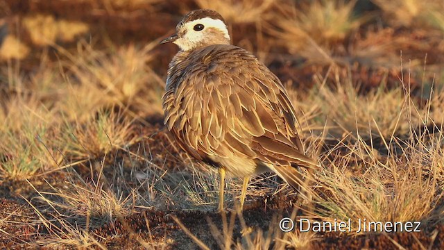
[[[3,68],[7,85],[0,137],[5,142],[5,176],[28,178],[59,168],[72,157],[91,158],[132,144],[137,140],[131,131],[135,114],[160,112],[161,80],[146,65],[148,47],[121,48],[115,56],[85,49],[78,57],[68,54],[71,59],[60,64],[68,70],[49,63],[45,55],[41,63],[46,67],[31,76],[20,74],[19,65]]]

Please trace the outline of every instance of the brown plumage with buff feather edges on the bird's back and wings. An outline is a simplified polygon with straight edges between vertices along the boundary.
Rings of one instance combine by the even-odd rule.
[[[189,61],[174,65],[183,69],[169,71],[165,124],[182,149],[198,159],[243,155],[273,164],[280,176],[297,183],[297,169],[291,165],[316,164],[305,156],[284,86],[248,51],[231,45],[210,47],[194,52],[203,58],[188,55]],[[194,76],[187,74],[190,65]]]

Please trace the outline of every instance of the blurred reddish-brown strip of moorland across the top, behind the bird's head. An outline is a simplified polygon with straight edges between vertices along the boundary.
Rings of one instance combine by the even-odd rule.
[[[370,87],[386,76],[397,81],[401,56],[429,70],[444,60],[441,0],[1,0],[1,64],[21,60],[20,70],[29,72],[42,56],[49,63],[64,58],[61,50],[76,55],[79,44],[142,49],[196,8],[219,11],[233,44],[299,85],[310,85],[312,75],[330,65],[348,67]],[[151,49],[155,73],[164,76],[176,51],[173,45]]]

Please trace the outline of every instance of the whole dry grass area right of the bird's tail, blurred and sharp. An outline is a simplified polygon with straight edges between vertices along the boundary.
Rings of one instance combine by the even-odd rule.
[[[432,92],[428,105],[418,108],[408,84],[400,85],[365,96],[346,83],[336,90],[319,85],[302,101],[302,109],[310,108],[307,113],[321,110],[315,123],[332,123],[314,135],[340,141],[321,154],[323,170],[316,175],[314,193],[321,209],[312,216],[332,223],[364,218],[441,223],[444,94]]]

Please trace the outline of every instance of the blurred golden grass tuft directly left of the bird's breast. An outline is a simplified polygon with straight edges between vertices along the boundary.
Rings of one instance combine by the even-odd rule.
[[[153,60],[153,46],[137,49],[129,45],[106,53],[80,45],[78,56],[69,55],[66,63],[71,94],[61,101],[62,113],[80,121],[100,108],[113,106],[138,115],[160,113],[164,83],[148,66]]]

